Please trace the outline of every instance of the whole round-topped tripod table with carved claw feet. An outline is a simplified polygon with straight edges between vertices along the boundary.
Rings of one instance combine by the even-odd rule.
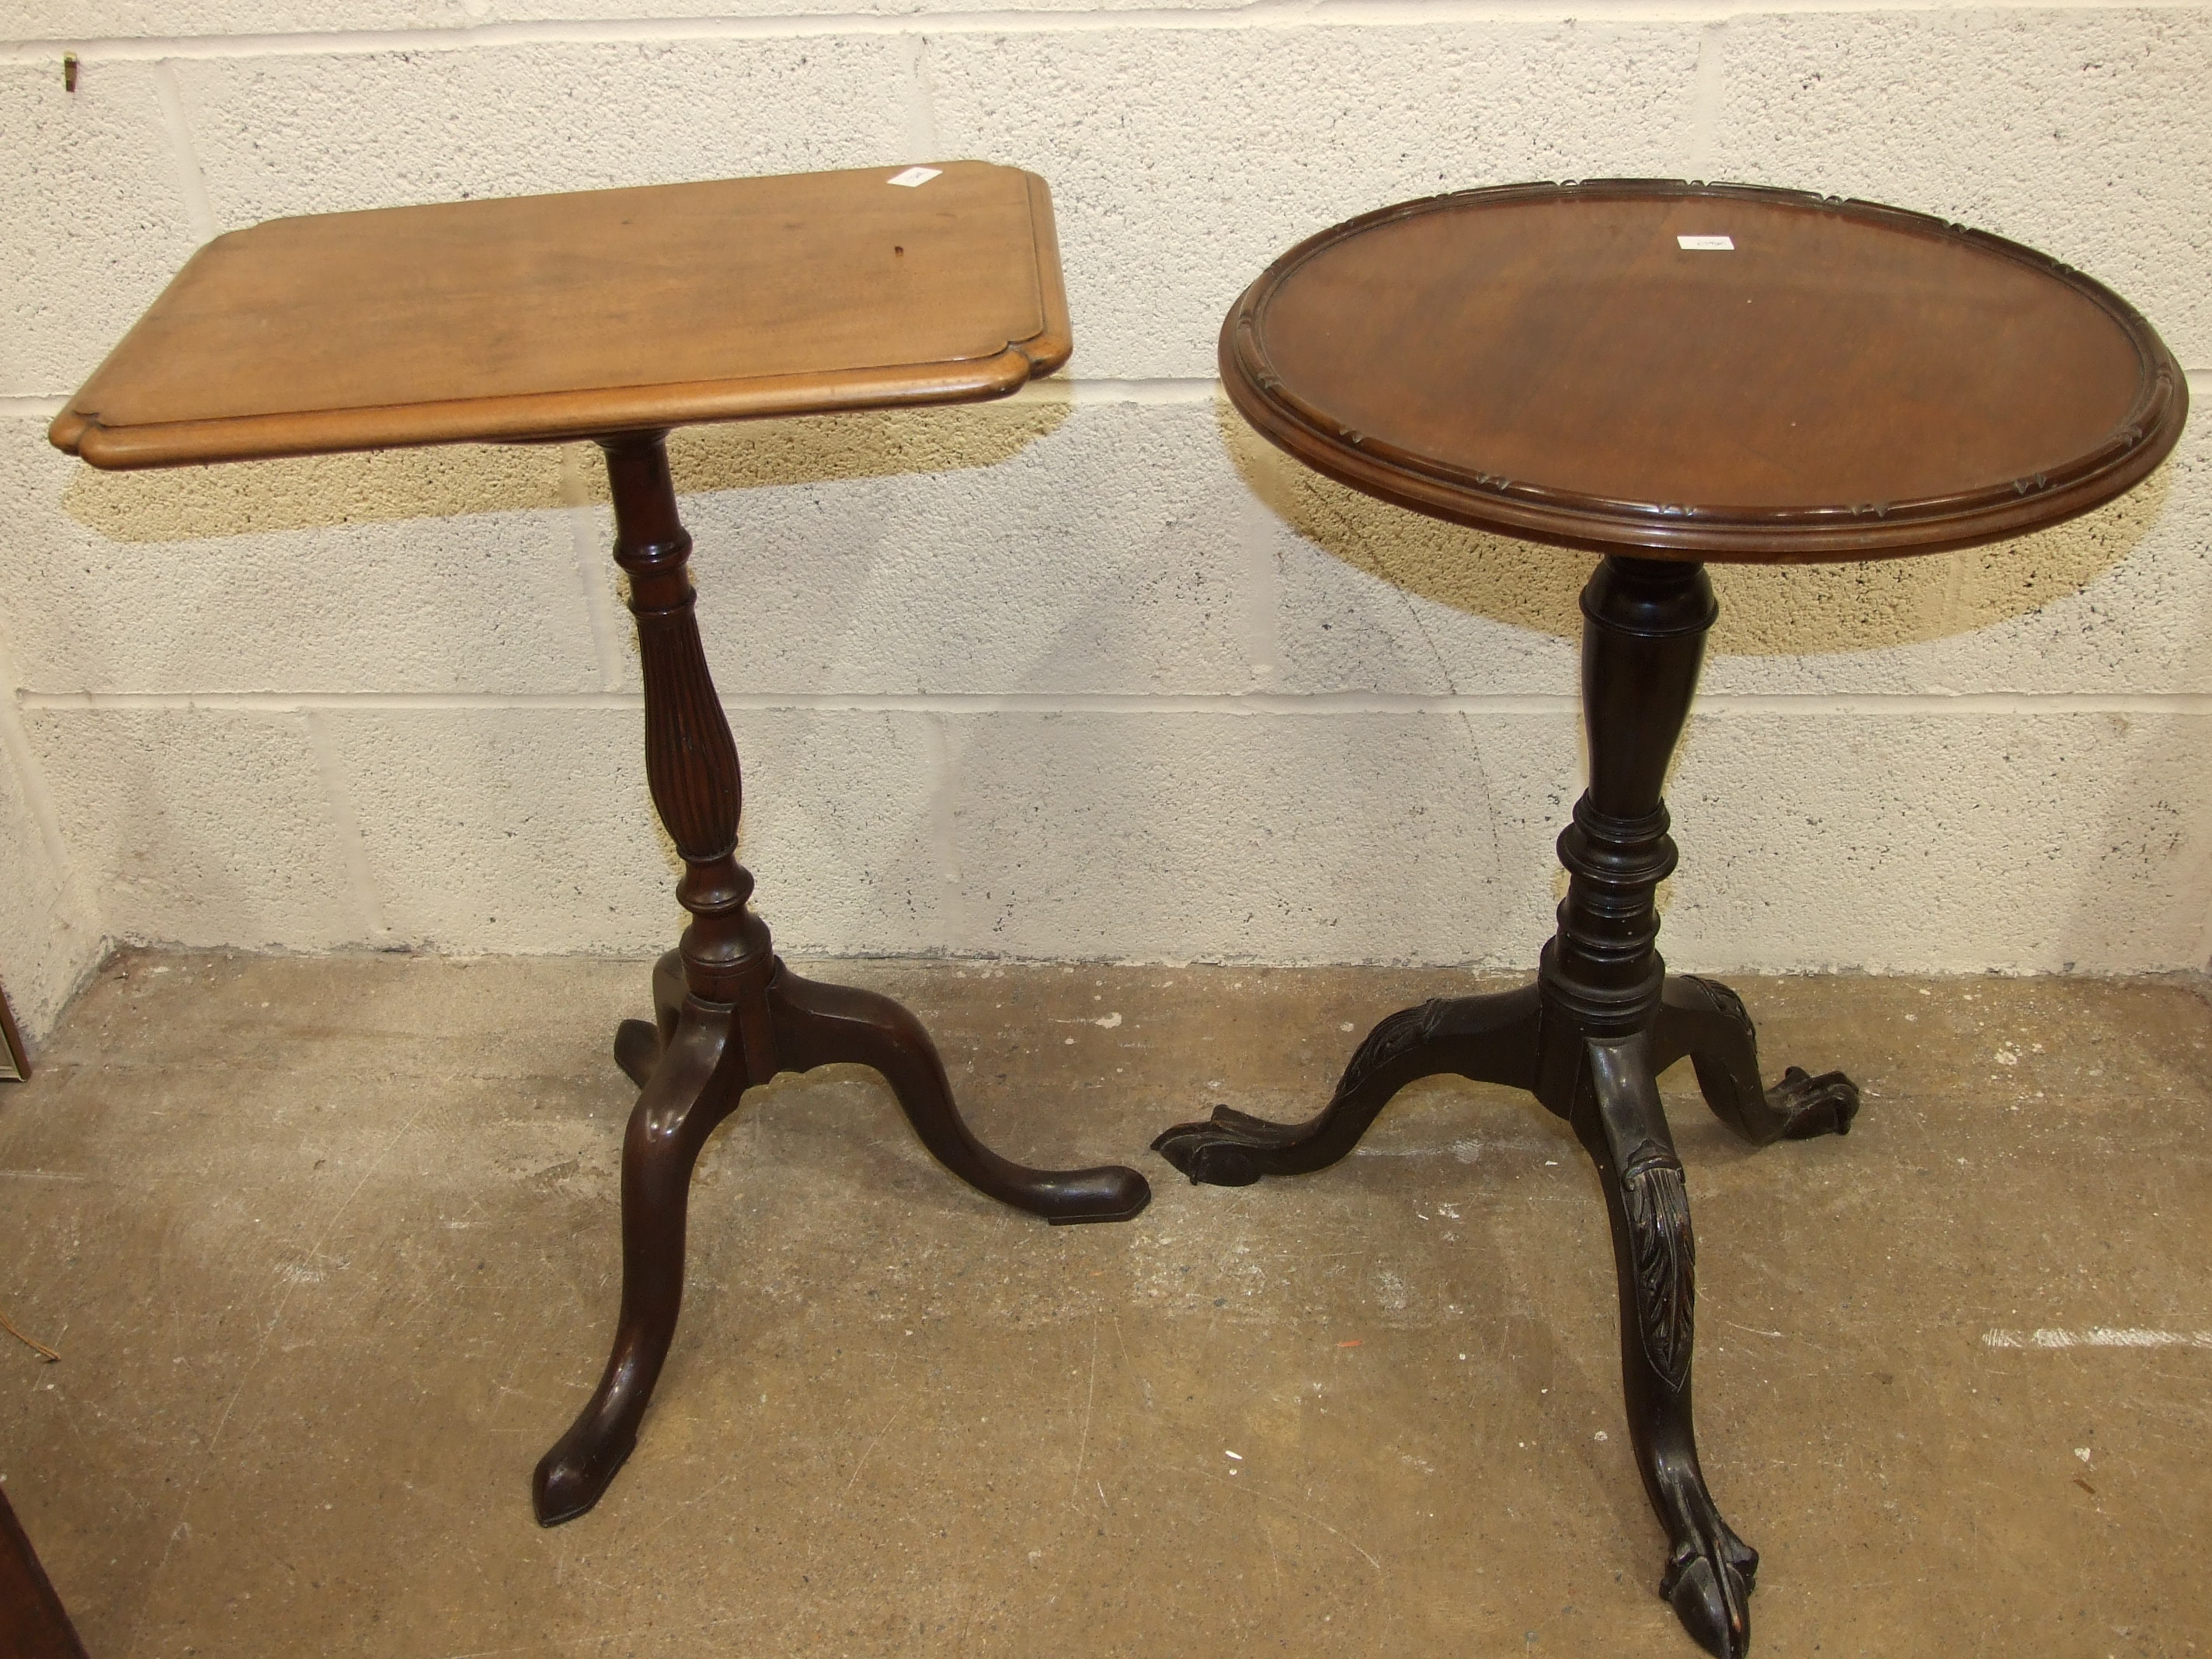
[[[2112,292],[1997,237],[1626,179],[1325,230],[1230,310],[1221,378],[1265,438],[1354,489],[1604,555],[1582,593],[1590,785],[1559,836],[1568,889],[1535,984],[1383,1020],[1305,1124],[1223,1106],[1155,1148],[1221,1186],[1318,1170],[1436,1073],[1564,1117],[1613,1221],[1628,1427],[1668,1533],[1659,1593],[1732,1659],[1759,1555],[1697,1462],[1694,1245],[1655,1079],[1688,1057],[1754,1144],[1843,1135],[1858,1091],[1794,1066],[1763,1088],[1736,993],[1668,975],[1652,949],[1652,889],[1674,869],[1659,792],[1717,615],[1703,564],[1933,553],[2084,513],[2174,447],[2181,372]]]

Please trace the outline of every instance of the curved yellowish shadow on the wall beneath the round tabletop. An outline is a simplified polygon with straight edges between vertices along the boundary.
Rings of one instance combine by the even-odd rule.
[[[1345,564],[1473,617],[1582,639],[1590,555],[1489,535],[1360,495],[1292,460],[1217,398],[1221,438],[1285,524]],[[1867,564],[1712,566],[1714,655],[1805,657],[1973,633],[2079,593],[2166,504],[2168,469],[2119,502],[2013,542]]]

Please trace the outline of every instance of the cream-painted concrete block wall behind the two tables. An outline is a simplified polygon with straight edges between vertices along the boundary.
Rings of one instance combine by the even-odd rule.
[[[254,219],[958,155],[1051,179],[1064,376],[677,442],[794,953],[1533,960],[1588,560],[1307,476],[1214,383],[1237,290],[1345,215],[1597,175],[1898,201],[2104,276],[2212,394],[2201,4],[46,0],[7,33],[0,975],[33,1031],[102,938],[672,938],[588,449],[46,449]],[[1670,960],[2205,964],[2201,418],[2026,542],[1719,586]]]

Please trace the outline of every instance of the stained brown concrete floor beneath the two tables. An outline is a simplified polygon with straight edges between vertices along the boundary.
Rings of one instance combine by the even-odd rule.
[[[1144,1148],[1310,1113],[1385,969],[834,964],[978,1133],[1121,1157],[1137,1221],[940,1172],[863,1071],[708,1148],[628,1469],[529,1473],[617,1287],[606,1060],[637,962],[126,956],[0,1088],[0,1473],[124,1655],[1683,1655],[1619,1405],[1595,1179],[1429,1082],[1356,1157],[1192,1188]],[[1739,980],[1849,1139],[1666,1097],[1699,1431],[1754,1650],[2212,1648],[2212,1006],[2181,984]]]

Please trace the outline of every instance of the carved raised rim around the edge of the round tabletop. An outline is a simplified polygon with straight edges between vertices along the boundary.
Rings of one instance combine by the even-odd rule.
[[[1471,204],[1502,206],[1546,197],[1745,199],[1812,208],[1869,226],[1909,230],[1920,237],[1936,234],[1969,246],[2026,265],[2106,312],[2135,347],[2135,400],[2099,445],[2031,478],[1951,495],[1878,504],[1725,507],[1610,500],[1455,467],[1436,456],[1389,445],[1374,434],[1354,431],[1325,409],[1303,400],[1276,374],[1265,341],[1267,307],[1287,279],[1316,254],[1383,223]],[[2024,535],[2101,507],[2139,484],[2172,451],[2188,418],[2188,380],[2172,352],[2128,301],[2093,276],[2033,248],[1933,215],[1756,184],[1681,179],[1504,184],[1378,208],[1307,237],[1267,265],[1223,319],[1219,361],[1230,403],[1263,438],[1352,489],[1409,507],[1416,513],[1502,535],[1595,553],[1672,560],[1761,564],[1880,560]]]

